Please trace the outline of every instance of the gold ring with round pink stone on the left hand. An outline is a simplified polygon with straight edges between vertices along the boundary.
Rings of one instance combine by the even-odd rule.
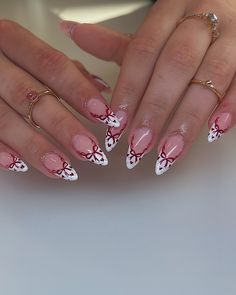
[[[39,102],[39,100],[45,96],[45,95],[50,95],[50,96],[53,96],[55,97],[59,102],[61,102],[61,99],[60,97],[58,97],[50,88],[47,87],[47,89],[41,91],[41,92],[36,92],[36,91],[31,91],[28,93],[27,95],[27,98],[31,100],[30,104],[29,104],[29,110],[28,110],[28,114],[27,114],[27,119],[29,121],[29,123],[40,129],[40,126],[38,126],[34,119],[33,119],[33,110],[34,110],[34,107],[35,105]]]

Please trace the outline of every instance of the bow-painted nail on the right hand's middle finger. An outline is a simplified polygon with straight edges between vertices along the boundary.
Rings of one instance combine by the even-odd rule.
[[[126,166],[128,169],[134,168],[146,154],[152,141],[152,132],[149,128],[136,129],[131,139]]]

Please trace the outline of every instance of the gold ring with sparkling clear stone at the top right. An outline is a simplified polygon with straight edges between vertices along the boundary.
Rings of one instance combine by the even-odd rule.
[[[208,13],[193,13],[191,15],[187,15],[187,16],[181,18],[178,21],[177,25],[179,25],[182,22],[184,22],[185,20],[191,19],[191,18],[199,18],[201,20],[206,21],[208,27],[211,29],[212,43],[215,42],[215,40],[220,35],[218,17],[213,12],[208,12]]]

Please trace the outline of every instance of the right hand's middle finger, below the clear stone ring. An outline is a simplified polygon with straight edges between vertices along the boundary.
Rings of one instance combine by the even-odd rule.
[[[205,22],[180,24],[168,40],[131,125],[127,167],[135,167],[155,145],[186,86],[195,75],[210,45]]]

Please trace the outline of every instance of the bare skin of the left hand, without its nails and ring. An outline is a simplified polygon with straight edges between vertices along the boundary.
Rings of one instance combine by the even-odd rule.
[[[24,120],[29,108],[27,95],[39,93],[47,85],[75,111],[97,122],[87,101],[96,97],[105,104],[100,93],[105,88],[79,61],[71,61],[12,21],[0,20],[0,36],[0,153],[9,152],[56,178],[42,161],[45,154],[53,152],[67,162],[69,159],[49,136],[79,160],[84,158],[72,146],[74,137],[85,135],[95,144],[98,140],[52,96],[43,96],[34,107],[33,119],[44,133],[38,132]]]

